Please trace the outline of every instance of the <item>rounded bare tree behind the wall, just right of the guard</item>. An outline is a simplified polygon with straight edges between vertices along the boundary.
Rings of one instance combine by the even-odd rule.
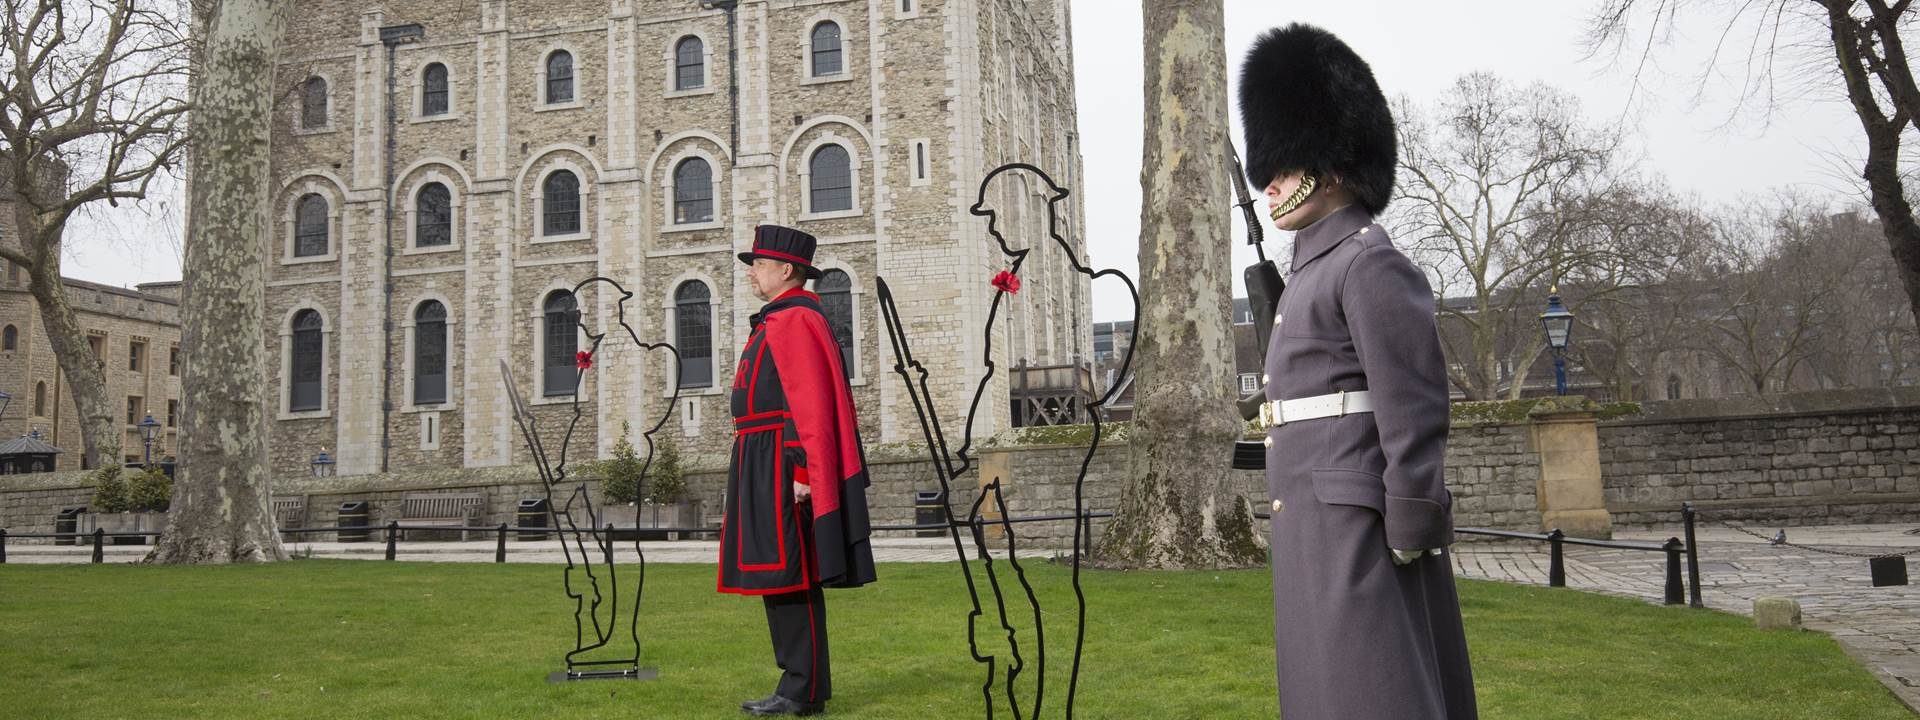
[[[1448,378],[1469,399],[1519,397],[1544,349],[1542,290],[1619,257],[1609,234],[1594,232],[1605,215],[1578,207],[1609,192],[1619,136],[1586,125],[1565,92],[1486,73],[1461,77],[1432,108],[1402,98],[1396,117],[1404,150],[1390,221],[1434,276]]]

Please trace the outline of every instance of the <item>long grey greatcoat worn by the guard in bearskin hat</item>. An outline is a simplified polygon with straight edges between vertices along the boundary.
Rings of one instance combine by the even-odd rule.
[[[1452,559],[1388,553],[1453,541],[1434,298],[1361,205],[1294,236],[1265,371],[1267,399],[1373,399],[1267,434],[1281,716],[1476,718]]]

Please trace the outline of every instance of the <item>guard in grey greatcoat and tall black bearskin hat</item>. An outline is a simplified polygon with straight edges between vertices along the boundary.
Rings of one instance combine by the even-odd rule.
[[[1475,718],[1444,549],[1446,361],[1427,276],[1373,223],[1394,119],[1352,48],[1267,31],[1240,69],[1246,179],[1294,234],[1265,357],[1273,643],[1286,720]]]

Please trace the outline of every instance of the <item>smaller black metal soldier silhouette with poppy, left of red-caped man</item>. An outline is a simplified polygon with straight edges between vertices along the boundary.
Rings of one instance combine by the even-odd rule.
[[[547,493],[547,516],[553,520],[553,528],[561,534],[561,551],[566,555],[563,586],[566,589],[566,597],[574,601],[574,649],[566,653],[566,670],[549,674],[547,682],[651,680],[659,676],[657,668],[639,666],[639,601],[647,588],[647,555],[639,547],[637,534],[634,540],[637,578],[634,582],[634,595],[626,618],[626,636],[632,639],[634,651],[614,659],[584,659],[593,651],[609,647],[614,641],[614,634],[620,632],[620,576],[618,564],[614,563],[612,524],[607,528],[593,526],[593,497],[588,493],[586,482],[578,482],[570,492],[566,492],[564,505],[555,497],[555,490],[568,482],[566,451],[582,417],[580,380],[586,376],[588,369],[591,369],[593,359],[599,357],[601,344],[607,340],[607,332],[593,332],[580,323],[580,290],[595,282],[605,282],[620,292],[620,298],[614,301],[614,323],[626,330],[626,336],[634,340],[634,346],[643,351],[666,349],[674,359],[676,376],[680,372],[680,349],[666,342],[641,342],[639,334],[634,332],[634,326],[628,324],[626,301],[634,298],[632,292],[605,276],[593,276],[576,284],[572,290],[574,324],[588,336],[589,346],[580,353],[576,363],[570,401],[572,415],[568,417],[566,432],[561,436],[561,447],[555,457],[547,453],[545,444],[540,440],[538,417],[532,413],[530,403],[524,396],[520,396],[518,386],[513,382],[513,371],[507,367],[507,361],[499,361],[501,382],[505,382],[507,397],[513,401],[513,419],[520,426],[520,436],[526,440],[526,449],[534,459],[534,467],[540,468],[540,482]],[[660,413],[660,419],[641,434],[647,442],[647,461],[639,470],[637,493],[645,493],[647,470],[653,468],[653,434],[666,426],[666,420],[674,415],[674,407],[678,405],[680,384],[676,382],[674,396],[668,399],[666,411]],[[578,516],[588,518],[586,528],[574,520],[576,513]],[[584,588],[576,588],[576,572],[584,576]],[[605,580],[605,586],[601,580]]]

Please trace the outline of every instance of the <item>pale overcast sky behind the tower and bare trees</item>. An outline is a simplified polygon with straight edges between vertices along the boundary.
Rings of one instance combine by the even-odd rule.
[[[1738,104],[1743,56],[1705,71],[1720,29],[1713,15],[1682,15],[1636,86],[1634,63],[1588,58],[1582,33],[1594,6],[1597,0],[1227,0],[1223,73],[1235,83],[1254,36],[1302,21],[1352,44],[1388,98],[1430,104],[1475,71],[1571,92],[1590,123],[1628,132],[1628,150],[1644,173],[1709,204],[1738,204],[1780,188],[1837,202],[1859,198],[1860,127],[1837,77],[1820,65],[1816,46],[1788,58],[1801,73],[1786,83],[1772,109],[1755,111]],[[1087,244],[1094,267],[1133,275],[1140,219],[1142,13],[1139,4],[1123,0],[1071,0],[1071,12],[1081,192],[1092,209]],[[1238,127],[1233,117],[1235,144],[1244,148]],[[179,278],[179,198],[177,190],[163,196],[144,207],[96,211],[71,227],[65,275],[115,286]],[[1233,217],[1233,236],[1244,238],[1238,213],[1227,202],[1219,207]],[[1252,263],[1254,252],[1238,240],[1235,248],[1229,275],[1238,288],[1240,267]],[[1269,257],[1288,252],[1288,234],[1269,230]],[[1094,319],[1125,319],[1125,292],[1106,286],[1094,288]]]

